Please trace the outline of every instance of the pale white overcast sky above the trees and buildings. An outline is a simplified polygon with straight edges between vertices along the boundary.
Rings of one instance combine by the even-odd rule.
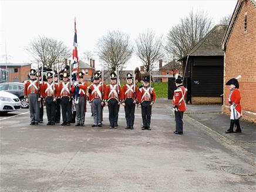
[[[223,16],[233,13],[237,0],[201,1],[2,1],[1,63],[27,63],[32,57],[25,47],[38,36],[62,40],[73,47],[74,18],[78,30],[78,54],[95,51],[97,40],[108,30],[128,33],[132,42],[147,28],[166,36],[180,18],[193,9],[204,10],[218,24]],[[100,61],[96,59],[96,65]],[[136,55],[127,64],[133,70],[141,65]]]

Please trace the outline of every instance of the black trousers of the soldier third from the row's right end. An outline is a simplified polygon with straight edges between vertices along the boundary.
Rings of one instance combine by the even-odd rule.
[[[118,101],[114,98],[109,100],[109,123],[110,126],[118,126],[118,113],[120,105],[118,104]]]

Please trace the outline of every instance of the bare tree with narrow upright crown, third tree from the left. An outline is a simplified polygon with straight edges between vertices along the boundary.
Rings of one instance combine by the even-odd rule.
[[[142,60],[144,67],[149,71],[156,68],[157,62],[163,56],[162,54],[162,37],[147,29],[146,33],[140,33],[136,39],[136,54]]]

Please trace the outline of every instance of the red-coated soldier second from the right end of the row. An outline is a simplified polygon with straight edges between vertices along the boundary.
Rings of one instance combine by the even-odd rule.
[[[134,111],[137,102],[137,97],[139,95],[139,90],[137,86],[133,84],[133,75],[127,73],[126,75],[127,84],[123,85],[122,95],[124,106],[125,118],[126,118],[126,129],[133,129],[134,124]]]

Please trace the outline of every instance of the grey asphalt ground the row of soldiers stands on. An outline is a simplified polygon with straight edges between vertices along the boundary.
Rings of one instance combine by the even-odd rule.
[[[189,106],[188,106],[189,108]],[[90,111],[88,108],[87,111]],[[175,135],[170,101],[154,104],[151,131],[143,131],[136,108],[134,130],[126,130],[120,107],[119,128],[29,125],[28,109],[0,116],[1,191],[255,191],[255,171],[232,149],[184,118],[184,135]],[[22,114],[23,113],[23,114]],[[16,115],[16,116],[15,116]]]

